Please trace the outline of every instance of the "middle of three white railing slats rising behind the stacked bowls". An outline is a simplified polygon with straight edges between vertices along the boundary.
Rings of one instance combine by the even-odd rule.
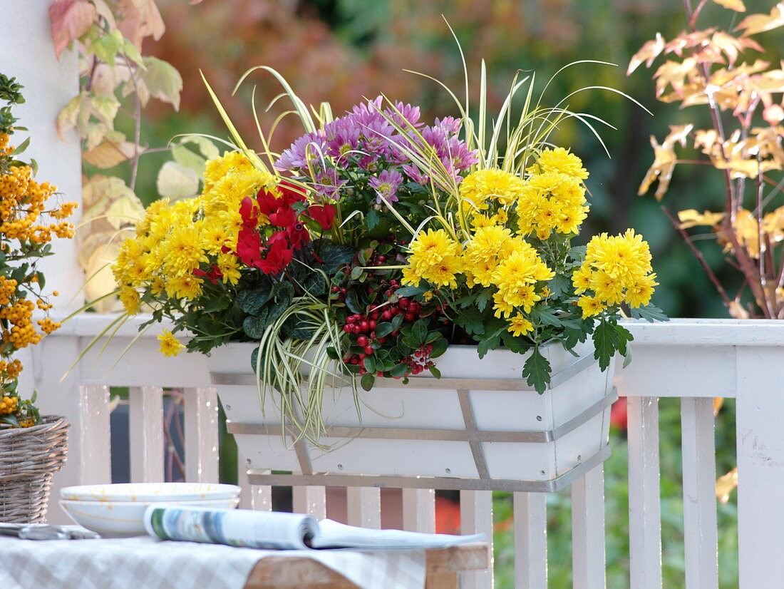
[[[128,398],[131,482],[162,482],[163,389],[153,386],[131,387]]]

